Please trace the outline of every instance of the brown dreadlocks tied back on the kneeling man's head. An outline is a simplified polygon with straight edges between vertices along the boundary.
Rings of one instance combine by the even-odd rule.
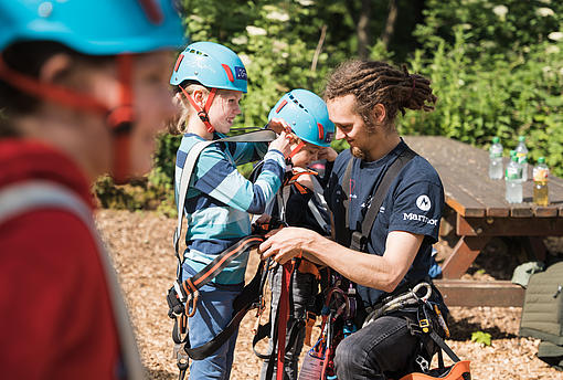
[[[436,96],[431,81],[418,74],[410,74],[406,66],[395,68],[385,62],[354,60],[341,63],[330,75],[325,99],[352,94],[355,110],[367,125],[372,125],[372,109],[381,103],[385,106],[387,122],[397,110],[404,116],[405,108],[434,109]]]

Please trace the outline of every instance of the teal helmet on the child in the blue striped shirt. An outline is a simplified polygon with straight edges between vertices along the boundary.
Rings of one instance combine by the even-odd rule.
[[[246,68],[238,55],[214,42],[195,42],[180,53],[170,84],[178,86],[184,81],[243,93],[246,93],[247,86]]]

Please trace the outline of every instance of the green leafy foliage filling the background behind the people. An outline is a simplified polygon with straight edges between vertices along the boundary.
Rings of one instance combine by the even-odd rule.
[[[237,127],[266,124],[270,107],[297,87],[322,93],[338,63],[354,57],[361,0],[183,0],[192,41],[233,49],[248,71],[248,93]],[[527,136],[530,161],[546,157],[563,176],[563,2],[555,0],[399,1],[395,36],[378,41],[387,2],[372,2],[370,57],[395,64],[407,59],[412,72],[432,80],[438,96],[433,113],[407,112],[401,134],[443,135],[488,148],[499,136],[506,149]],[[422,11],[419,7],[424,4]],[[321,31],[322,49],[317,52]],[[312,67],[314,59],[317,66]],[[180,137],[162,135],[155,170],[138,186],[114,189],[100,181],[104,204],[160,208],[173,213],[173,172]],[[338,150],[346,141],[333,141]],[[248,175],[252,166],[238,170]]]

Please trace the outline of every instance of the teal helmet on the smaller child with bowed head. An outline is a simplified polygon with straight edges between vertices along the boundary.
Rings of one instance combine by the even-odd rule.
[[[273,118],[284,119],[297,137],[314,145],[328,147],[334,136],[327,104],[307,89],[293,89],[282,96],[269,112],[268,120]]]

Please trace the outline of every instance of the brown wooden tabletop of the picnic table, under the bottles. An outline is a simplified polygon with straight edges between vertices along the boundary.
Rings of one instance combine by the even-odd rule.
[[[529,165],[523,203],[504,200],[504,180],[489,179],[485,149],[442,136],[406,136],[405,142],[438,171],[446,203],[461,217],[563,218],[563,180],[550,176],[550,205],[532,203],[533,181]],[[508,158],[504,158],[504,165]]]

